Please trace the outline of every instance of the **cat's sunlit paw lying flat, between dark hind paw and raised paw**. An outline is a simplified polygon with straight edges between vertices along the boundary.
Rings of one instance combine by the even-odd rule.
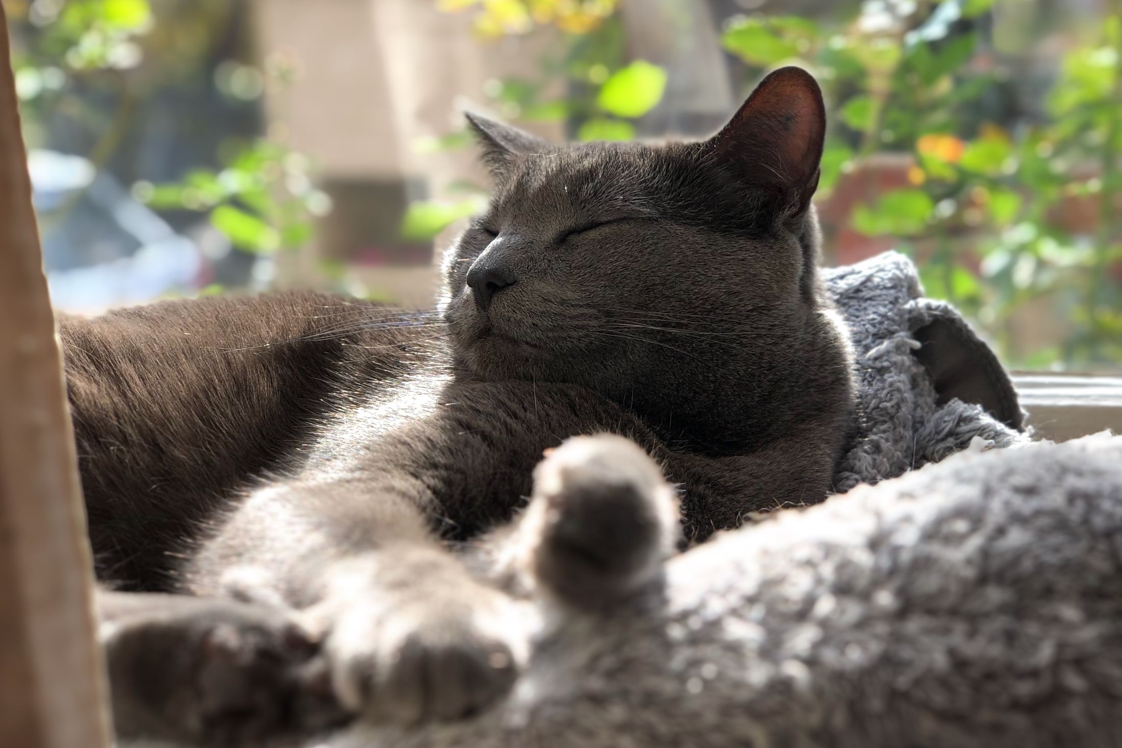
[[[448,573],[444,560],[386,563],[397,567],[333,615],[327,648],[340,700],[367,719],[414,724],[469,717],[506,694],[527,648],[517,603]]]

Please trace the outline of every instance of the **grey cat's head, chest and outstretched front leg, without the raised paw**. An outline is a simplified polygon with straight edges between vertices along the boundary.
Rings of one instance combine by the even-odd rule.
[[[683,484],[699,541],[825,498],[849,425],[806,72],[769,76],[703,142],[549,146],[470,121],[496,190],[444,264],[451,345],[325,414],[289,474],[226,511],[183,569],[191,594],[296,611],[342,702],[379,721],[463,717],[511,686],[527,646],[513,603],[431,530],[508,519],[544,449],[636,440]]]

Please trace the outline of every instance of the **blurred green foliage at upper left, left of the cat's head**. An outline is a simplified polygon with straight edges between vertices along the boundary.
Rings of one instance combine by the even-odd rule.
[[[101,138],[90,154],[94,167],[102,168],[120,145],[137,95],[138,82],[127,76],[147,54],[167,49],[166,35],[175,29],[159,28],[149,0],[3,1],[26,40],[13,57],[25,131],[37,137],[36,123],[59,108],[99,122],[103,116],[68,94],[100,85],[118,102],[113,121],[99,128]],[[182,53],[175,45],[171,49]],[[261,92],[259,71],[231,62],[220,73],[226,75],[215,84],[231,95]],[[132,194],[158,210],[206,213],[241,251],[261,255],[306,246],[314,219],[331,207],[313,184],[309,160],[267,139],[236,144],[223,160],[221,169],[195,168],[174,184],[138,182]]]

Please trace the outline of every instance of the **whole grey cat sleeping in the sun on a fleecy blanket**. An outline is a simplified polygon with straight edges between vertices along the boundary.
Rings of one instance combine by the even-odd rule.
[[[551,495],[534,465],[567,437],[637,442],[680,486],[687,541],[829,491],[852,382],[817,276],[813,79],[776,71],[702,142],[469,123],[495,193],[447,252],[438,315],[289,294],[62,321],[123,735],[487,707],[530,632],[509,579],[450,545]],[[662,505],[624,500],[647,468],[622,449],[616,478],[595,452],[533,562],[578,606],[643,583],[664,545]],[[494,537],[493,572],[522,557]]]

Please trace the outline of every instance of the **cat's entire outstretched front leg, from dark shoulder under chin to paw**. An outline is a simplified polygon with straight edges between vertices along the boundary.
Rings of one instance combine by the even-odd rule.
[[[486,708],[528,650],[523,604],[473,578],[438,534],[470,538],[506,520],[531,492],[545,447],[590,424],[633,421],[578,388],[532,382],[458,385],[423,417],[417,401],[403,387],[348,421],[348,432],[395,427],[342,433],[346,449],[328,446],[344,458],[251,492],[184,570],[194,594],[300,611],[322,631],[344,704],[404,723]],[[563,553],[563,534],[557,541]],[[642,576],[616,572],[610,583]],[[586,576],[596,576],[595,562]]]

